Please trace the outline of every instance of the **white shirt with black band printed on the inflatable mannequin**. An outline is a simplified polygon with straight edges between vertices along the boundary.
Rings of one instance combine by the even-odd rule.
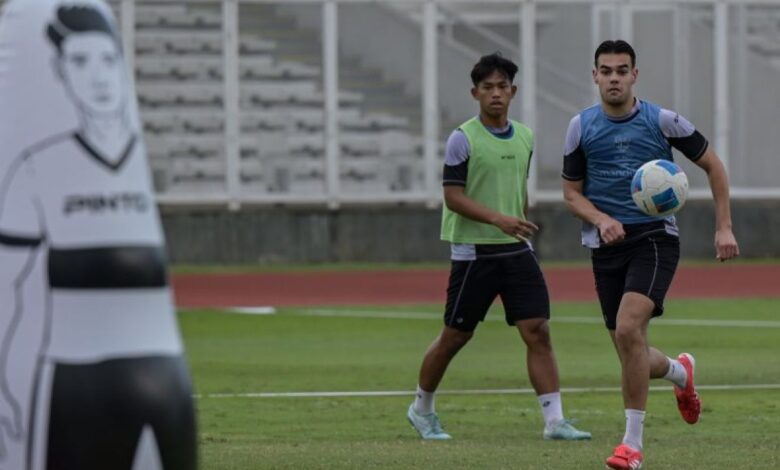
[[[0,183],[0,242],[41,253],[45,354],[58,362],[182,352],[144,156],[135,137],[107,159],[68,133],[25,151]]]

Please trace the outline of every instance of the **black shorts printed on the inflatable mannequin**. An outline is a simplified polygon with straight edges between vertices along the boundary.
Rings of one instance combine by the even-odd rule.
[[[55,365],[47,469],[133,468],[146,427],[163,468],[195,470],[195,414],[183,358]]]

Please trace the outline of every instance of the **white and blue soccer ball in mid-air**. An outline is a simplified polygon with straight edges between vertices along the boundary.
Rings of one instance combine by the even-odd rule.
[[[682,209],[688,197],[688,177],[672,161],[649,161],[634,173],[631,197],[647,215],[674,214]]]

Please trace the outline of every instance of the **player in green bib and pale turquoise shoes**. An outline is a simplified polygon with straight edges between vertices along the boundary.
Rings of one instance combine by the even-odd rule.
[[[471,71],[479,115],[447,141],[441,238],[451,242],[452,270],[444,327],[425,353],[417,398],[407,411],[423,439],[450,439],[434,410],[434,392],[497,296],[507,324],[517,327],[526,344],[544,438],[590,439],[563,418],[547,285],[528,241],[538,229],[526,220],[533,134],[507,118],[516,73],[517,66],[498,53],[482,57]]]

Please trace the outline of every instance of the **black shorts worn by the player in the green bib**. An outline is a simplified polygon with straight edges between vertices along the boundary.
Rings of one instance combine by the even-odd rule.
[[[474,331],[501,297],[508,325],[530,318],[550,318],[550,296],[534,252],[453,261],[447,287],[444,324]]]

